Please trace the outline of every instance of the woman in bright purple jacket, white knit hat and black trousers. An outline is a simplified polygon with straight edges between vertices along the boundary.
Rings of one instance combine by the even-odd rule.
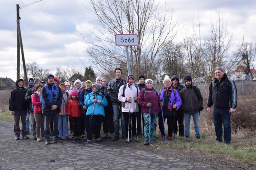
[[[161,102],[163,102],[163,118],[162,113],[159,113],[159,120],[158,125],[161,132],[160,139],[164,139],[164,124],[163,119],[167,119],[167,125],[168,125],[168,141],[172,141],[172,133],[173,133],[173,122],[174,122],[174,116],[177,114],[177,110],[181,107],[181,98],[179,96],[179,93],[172,88],[171,86],[171,79],[168,75],[164,77],[163,80],[164,88],[159,92],[159,96],[161,99]]]

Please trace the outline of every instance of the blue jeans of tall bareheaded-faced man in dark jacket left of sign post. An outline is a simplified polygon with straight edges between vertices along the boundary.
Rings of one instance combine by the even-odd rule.
[[[113,107],[113,115],[114,115],[115,137],[119,137],[119,129],[120,129],[119,119],[121,118],[122,137],[125,138],[125,120],[121,112],[121,105],[112,104],[112,107]]]

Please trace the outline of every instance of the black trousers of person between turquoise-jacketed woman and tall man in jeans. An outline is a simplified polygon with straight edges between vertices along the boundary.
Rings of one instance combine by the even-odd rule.
[[[105,109],[105,117],[103,119],[103,132],[114,133],[113,111],[111,109]]]

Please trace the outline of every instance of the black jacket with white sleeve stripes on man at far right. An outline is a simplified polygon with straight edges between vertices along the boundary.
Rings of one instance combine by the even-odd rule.
[[[219,81],[215,78],[209,86],[209,96],[207,107],[214,105],[216,108],[236,108],[237,104],[237,90],[235,83],[230,80],[226,74],[224,74],[224,80],[220,82],[217,89],[217,83]]]

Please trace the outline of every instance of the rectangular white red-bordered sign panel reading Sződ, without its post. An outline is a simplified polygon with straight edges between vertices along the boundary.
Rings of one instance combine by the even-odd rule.
[[[115,44],[117,46],[138,46],[139,36],[138,34],[116,34]]]

